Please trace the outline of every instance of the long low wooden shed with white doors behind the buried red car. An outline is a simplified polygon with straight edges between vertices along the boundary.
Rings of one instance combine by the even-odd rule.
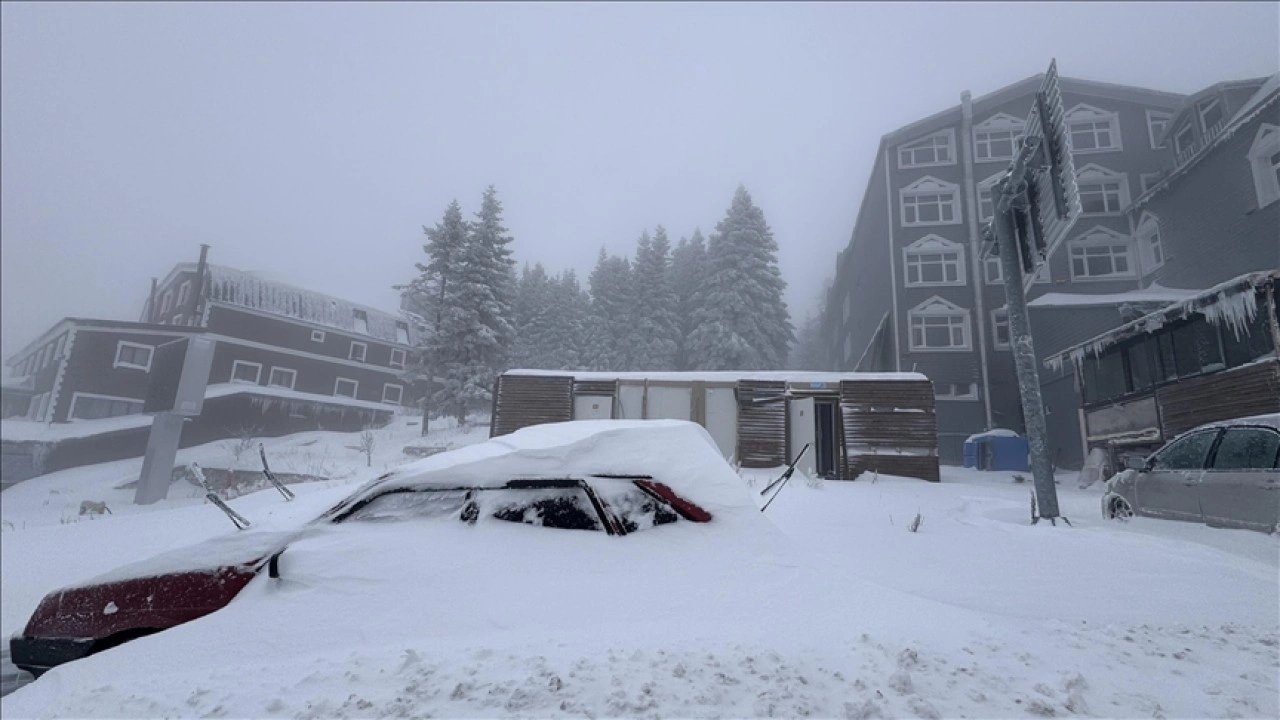
[[[489,434],[585,419],[692,420],[731,462],[855,479],[938,480],[933,384],[919,373],[557,373],[508,370]]]

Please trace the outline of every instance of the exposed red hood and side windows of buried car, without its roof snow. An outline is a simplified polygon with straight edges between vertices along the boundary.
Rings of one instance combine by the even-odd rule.
[[[319,527],[425,518],[472,525],[502,520],[625,536],[680,520],[712,519],[648,475],[488,482],[476,479],[475,465],[468,468],[471,471],[444,469],[416,479],[384,475],[302,530],[236,533],[122,568],[88,584],[54,591],[40,602],[22,633],[12,638],[13,664],[38,676],[55,665],[220,610],[262,570],[278,577],[280,553]],[[451,483],[449,477],[462,482]]]

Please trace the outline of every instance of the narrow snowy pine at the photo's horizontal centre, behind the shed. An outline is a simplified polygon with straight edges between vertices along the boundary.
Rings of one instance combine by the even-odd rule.
[[[671,241],[658,225],[650,241],[640,236],[634,265],[635,364],[637,370],[672,370],[676,366],[680,320],[671,278]]]

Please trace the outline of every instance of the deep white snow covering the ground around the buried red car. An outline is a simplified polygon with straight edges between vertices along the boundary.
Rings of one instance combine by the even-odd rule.
[[[307,471],[319,456],[333,479],[294,486],[294,502],[266,489],[230,505],[257,527],[289,527],[403,465],[404,442],[488,434],[383,433],[372,468],[348,450],[355,436],[268,441],[273,469]],[[183,452],[225,465],[230,451]],[[82,468],[0,493],[5,637],[55,587],[234,533],[180,483],[168,501],[132,506],[131,491],[113,488],[137,469]],[[332,562],[300,550],[282,562],[285,583],[256,580],[212,616],[55,669],[0,701],[0,715],[1280,715],[1280,538],[1103,521],[1101,488],[1065,475],[1073,525],[1033,527],[1028,484],[942,477],[797,474],[759,523],[786,538],[777,552],[714,523],[626,538],[485,528],[484,544],[453,527],[376,544],[410,537],[380,527],[367,547],[326,546]],[[756,500],[768,479],[741,473]],[[114,514],[83,519],[81,500]],[[544,556],[503,551],[534,537]]]

